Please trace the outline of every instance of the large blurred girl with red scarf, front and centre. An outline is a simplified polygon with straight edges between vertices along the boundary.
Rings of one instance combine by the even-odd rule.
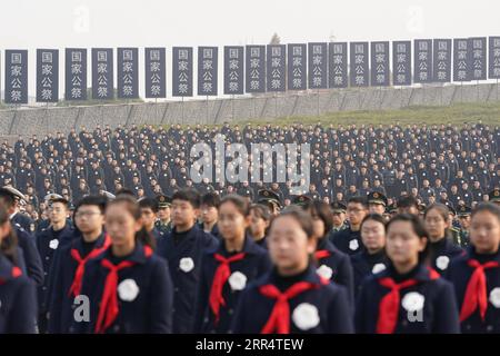
[[[352,333],[343,286],[320,277],[311,261],[316,250],[312,219],[287,208],[270,227],[273,269],[241,295],[231,330],[236,334]]]

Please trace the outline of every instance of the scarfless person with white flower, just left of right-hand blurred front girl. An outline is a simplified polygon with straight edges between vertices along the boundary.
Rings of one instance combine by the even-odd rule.
[[[363,280],[387,269],[386,221],[379,214],[369,214],[361,222],[361,239],[364,249],[351,256],[354,270],[354,295],[361,290]]]

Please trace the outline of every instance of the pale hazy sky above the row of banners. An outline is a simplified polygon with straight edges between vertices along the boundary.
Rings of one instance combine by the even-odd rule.
[[[36,48],[494,36],[499,14],[499,0],[16,0],[2,3],[0,50],[3,63],[4,49],[29,49],[32,75]]]

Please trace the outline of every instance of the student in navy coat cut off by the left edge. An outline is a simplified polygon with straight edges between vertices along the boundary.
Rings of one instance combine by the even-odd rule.
[[[36,332],[34,284],[6,257],[8,249],[11,251],[16,249],[14,234],[9,221],[9,212],[4,207],[0,207],[0,335],[34,334]],[[10,245],[6,246],[6,239],[10,241]]]

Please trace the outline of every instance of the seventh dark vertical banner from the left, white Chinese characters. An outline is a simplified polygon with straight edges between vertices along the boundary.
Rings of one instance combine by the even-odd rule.
[[[192,97],[192,47],[173,47],[172,66],[172,96]]]

